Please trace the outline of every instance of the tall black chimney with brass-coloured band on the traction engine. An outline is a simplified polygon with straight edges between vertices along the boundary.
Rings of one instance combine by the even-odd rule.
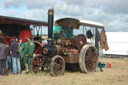
[[[49,9],[48,10],[48,44],[52,44],[52,32],[53,32],[53,20],[54,20],[54,10]]]

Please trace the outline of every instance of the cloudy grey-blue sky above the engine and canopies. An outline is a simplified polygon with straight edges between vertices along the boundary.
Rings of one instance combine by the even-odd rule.
[[[128,32],[128,0],[0,0],[0,15],[47,21],[47,11],[55,10],[55,20],[75,17],[103,23],[106,31]]]

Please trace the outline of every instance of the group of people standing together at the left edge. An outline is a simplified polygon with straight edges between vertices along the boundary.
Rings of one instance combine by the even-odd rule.
[[[3,36],[0,36],[0,76],[8,76],[9,71],[12,74],[20,74],[26,70],[26,74],[31,72],[31,59],[35,50],[35,43],[32,37],[27,37],[27,42],[23,43],[22,38],[12,38],[9,45],[5,43]]]

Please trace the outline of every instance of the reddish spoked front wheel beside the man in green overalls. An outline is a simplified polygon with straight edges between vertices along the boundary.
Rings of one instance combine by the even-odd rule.
[[[42,70],[43,59],[41,55],[35,55],[31,63],[31,70],[33,73],[36,74]]]

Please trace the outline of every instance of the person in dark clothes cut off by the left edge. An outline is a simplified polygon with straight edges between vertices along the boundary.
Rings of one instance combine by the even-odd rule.
[[[8,55],[8,48],[4,44],[4,37],[0,37],[0,75],[8,75],[6,70],[6,58]]]

